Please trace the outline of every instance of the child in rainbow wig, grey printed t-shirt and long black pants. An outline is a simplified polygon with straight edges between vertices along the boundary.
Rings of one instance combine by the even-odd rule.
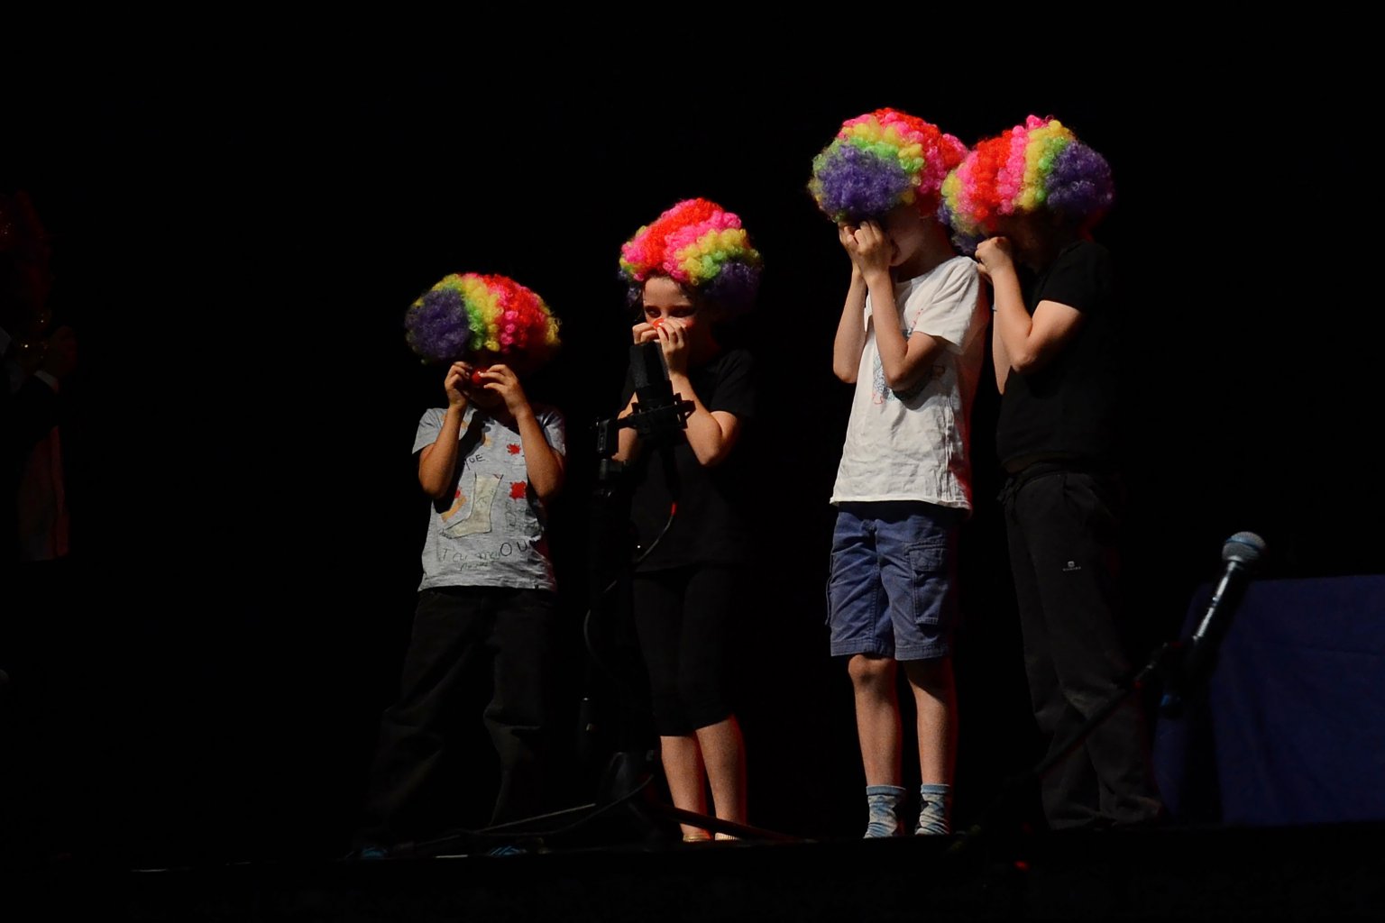
[[[409,346],[440,365],[446,405],[414,436],[432,501],[399,697],[385,711],[356,834],[363,855],[457,826],[435,810],[449,728],[474,671],[493,677],[486,728],[500,757],[492,823],[543,808],[557,595],[546,505],[564,479],[564,419],[519,382],[558,349],[558,321],[503,275],[453,274],[404,316]]]

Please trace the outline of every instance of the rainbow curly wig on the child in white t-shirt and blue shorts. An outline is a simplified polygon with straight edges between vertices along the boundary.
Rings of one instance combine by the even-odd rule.
[[[879,217],[900,203],[932,212],[947,172],[967,145],[938,126],[896,109],[875,109],[842,122],[832,143],[813,158],[807,191],[838,224]]]

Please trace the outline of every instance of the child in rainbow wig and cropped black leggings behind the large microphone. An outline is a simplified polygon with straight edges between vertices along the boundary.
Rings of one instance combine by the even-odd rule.
[[[658,343],[673,393],[691,414],[672,439],[620,429],[618,461],[633,482],[630,518],[636,632],[644,653],[673,804],[745,823],[745,744],[734,711],[733,630],[742,616],[749,542],[749,472],[737,451],[753,417],[751,354],[722,342],[717,322],[748,310],[760,255],[741,219],[686,199],[620,248],[620,275],[638,320],[636,345]],[[620,418],[638,412],[627,375]],[[734,828],[716,830],[731,836]],[[706,840],[695,823],[684,840]]]

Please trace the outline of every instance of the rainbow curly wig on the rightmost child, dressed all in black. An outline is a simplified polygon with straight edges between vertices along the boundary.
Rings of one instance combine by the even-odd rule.
[[[943,181],[943,213],[968,253],[1008,214],[1048,213],[1083,230],[1111,208],[1111,166],[1057,119],[1030,115],[976,144]]]

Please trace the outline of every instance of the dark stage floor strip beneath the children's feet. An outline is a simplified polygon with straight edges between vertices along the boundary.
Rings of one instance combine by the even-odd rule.
[[[1385,919],[1385,825],[837,841],[119,869],[51,862],[7,920]],[[465,847],[467,844],[457,844]],[[28,890],[28,888],[25,888]],[[11,890],[11,897],[15,893]]]

